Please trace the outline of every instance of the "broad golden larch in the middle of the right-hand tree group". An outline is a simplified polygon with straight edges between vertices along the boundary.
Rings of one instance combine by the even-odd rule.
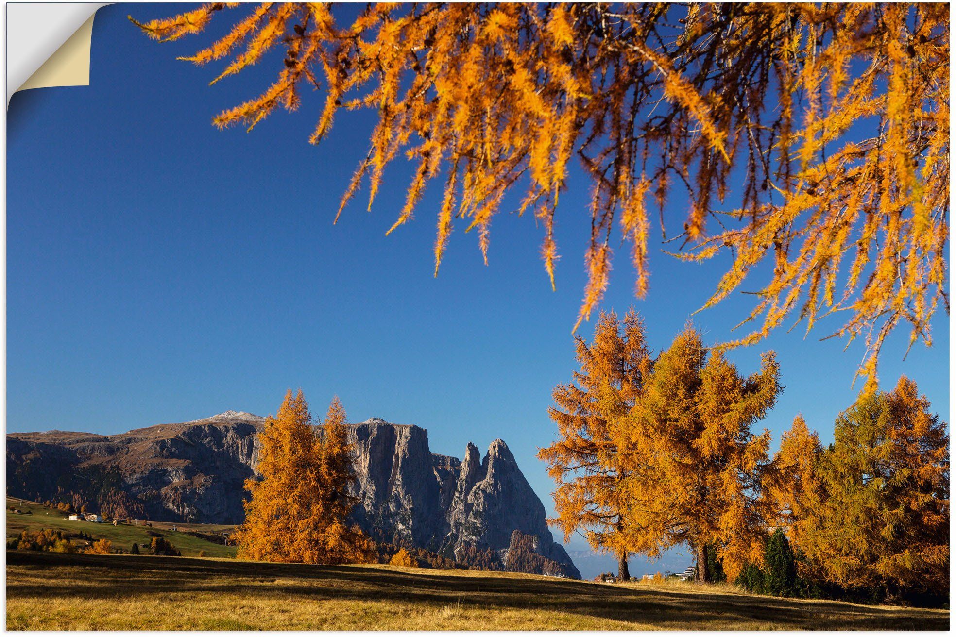
[[[684,544],[697,556],[697,578],[710,581],[720,560],[728,579],[763,560],[760,481],[769,464],[770,432],[751,427],[780,393],[772,352],[760,372],[741,376],[719,351],[709,351],[688,325],[664,350],[641,404],[622,431],[627,476],[620,501],[626,541],[649,556]],[[716,556],[710,556],[710,551]]]

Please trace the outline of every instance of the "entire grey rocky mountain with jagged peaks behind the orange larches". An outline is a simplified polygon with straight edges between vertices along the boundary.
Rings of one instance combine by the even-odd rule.
[[[12,497],[71,501],[117,517],[239,523],[265,419],[226,412],[126,434],[48,431],[7,436]],[[376,540],[459,562],[580,577],[554,542],[544,506],[504,440],[488,454],[432,454],[415,425],[371,418],[350,427],[355,521]]]

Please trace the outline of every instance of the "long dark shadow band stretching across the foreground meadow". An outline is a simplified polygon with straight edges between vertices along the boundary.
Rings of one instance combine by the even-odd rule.
[[[416,604],[534,608],[659,627],[693,624],[763,623],[788,628],[945,629],[949,614],[919,608],[876,607],[838,602],[783,600],[706,591],[640,590],[536,577],[508,577],[478,571],[402,572],[375,565],[213,561],[146,556],[63,555],[8,551],[7,595],[81,596],[114,599],[161,592],[230,592],[249,595],[299,595]],[[67,567],[70,579],[86,584],[24,584],[10,568],[42,575]],[[225,581],[224,581],[225,580]]]

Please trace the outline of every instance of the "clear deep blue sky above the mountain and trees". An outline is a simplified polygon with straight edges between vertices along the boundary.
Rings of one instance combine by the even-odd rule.
[[[297,113],[276,113],[250,135],[218,131],[211,117],[257,95],[281,53],[209,87],[219,66],[175,60],[208,36],[160,45],[126,20],[179,9],[98,11],[91,85],[12,98],[9,430],[112,434],[230,409],[269,414],[287,388],[301,387],[315,414],[338,394],[352,420],[424,427],[437,453],[461,457],[469,440],[484,450],[504,438],[552,509],[553,484],[534,454],[554,438],[552,388],[576,369],[587,181],[573,176],[561,197],[556,292],[531,217],[494,220],[487,267],[477,238],[456,228],[432,278],[437,188],[415,222],[384,237],[404,201],[405,166],[386,173],[372,213],[360,192],[332,224],[371,117],[340,115],[331,137],[311,146],[320,99],[306,92]],[[223,17],[210,34],[228,26]],[[687,205],[674,196],[665,214],[681,223]],[[619,249],[603,308],[634,303],[660,350],[728,261],[653,254],[651,265],[650,294],[638,302]],[[706,340],[728,339],[752,298],[698,314]],[[800,328],[780,331],[730,352],[745,373],[761,351],[778,352],[786,390],[764,423],[774,447],[798,412],[831,440],[836,414],[853,402],[862,344],[843,351],[817,340],[836,327],[825,321],[806,339]],[[946,418],[945,313],[933,335],[932,349],[918,345],[902,361],[908,334],[898,330],[880,379],[890,387],[906,373]]]

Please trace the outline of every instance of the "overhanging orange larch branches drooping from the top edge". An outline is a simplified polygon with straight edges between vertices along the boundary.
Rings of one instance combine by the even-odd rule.
[[[251,129],[315,89],[318,143],[340,111],[375,109],[338,212],[363,180],[371,208],[404,155],[413,175],[388,232],[441,180],[436,273],[455,224],[477,233],[487,263],[494,215],[529,211],[554,287],[555,213],[577,159],[593,185],[578,323],[619,241],[644,296],[656,232],[687,260],[729,254],[704,307],[766,275],[747,286],[756,304],[742,325],[758,327],[725,345],[794,313],[809,331],[844,310],[833,335],[865,337],[867,391],[892,329],[909,324],[911,345],[929,345],[931,317],[948,311],[945,4],[382,3],[340,23],[324,3],[212,3],[133,21],[169,41],[227,10],[228,34],[182,59],[226,60],[216,82],[284,56],[264,93],[214,124]],[[512,190],[523,192],[513,208]],[[664,219],[668,198],[686,211],[677,219]]]

